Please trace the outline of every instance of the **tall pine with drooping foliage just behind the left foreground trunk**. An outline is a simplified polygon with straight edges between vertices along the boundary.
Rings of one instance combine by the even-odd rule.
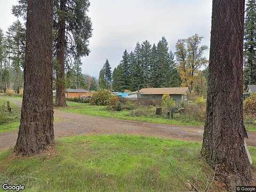
[[[27,0],[19,0],[12,7],[15,16],[27,15]],[[89,55],[89,38],[92,36],[92,22],[88,17],[89,0],[55,0],[53,12],[54,55],[57,57],[56,105],[66,106],[65,64],[67,55],[82,57]]]

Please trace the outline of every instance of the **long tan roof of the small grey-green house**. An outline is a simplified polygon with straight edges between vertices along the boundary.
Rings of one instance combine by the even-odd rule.
[[[140,94],[188,94],[188,87],[165,87],[141,89]]]

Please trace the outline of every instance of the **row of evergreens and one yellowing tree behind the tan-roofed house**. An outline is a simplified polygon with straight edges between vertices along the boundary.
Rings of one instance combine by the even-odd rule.
[[[112,74],[109,61],[106,61],[100,70],[99,87],[137,91],[145,87],[187,86],[191,91],[206,94],[204,71],[207,70],[208,60],[204,51],[208,48],[200,46],[202,39],[197,34],[179,39],[174,53],[169,50],[165,37],[157,45],[151,45],[147,40],[142,44],[138,42],[134,51],[124,51]]]

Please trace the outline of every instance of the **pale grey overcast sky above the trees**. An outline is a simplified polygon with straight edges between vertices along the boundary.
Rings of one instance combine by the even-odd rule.
[[[0,0],[0,28],[4,31],[15,21],[11,6],[17,1]],[[125,49],[130,52],[146,39],[157,44],[165,36],[175,51],[178,39],[197,33],[209,46],[211,9],[211,0],[91,0],[93,37],[91,53],[82,59],[83,73],[98,76],[107,58],[114,68]]]

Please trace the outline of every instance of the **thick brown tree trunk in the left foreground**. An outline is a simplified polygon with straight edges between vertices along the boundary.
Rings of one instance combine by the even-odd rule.
[[[54,142],[52,101],[53,0],[28,0],[24,94],[14,151],[41,153]]]

